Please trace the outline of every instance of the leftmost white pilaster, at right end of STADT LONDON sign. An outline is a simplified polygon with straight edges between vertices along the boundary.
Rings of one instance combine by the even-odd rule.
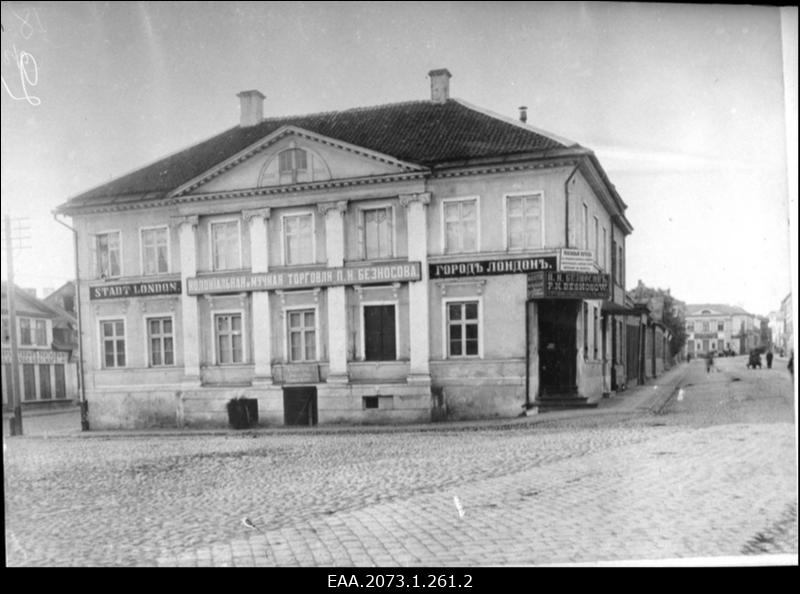
[[[173,217],[181,250],[181,328],[183,330],[183,375],[188,384],[200,383],[200,330],[197,297],[186,294],[186,279],[197,275],[197,215]]]

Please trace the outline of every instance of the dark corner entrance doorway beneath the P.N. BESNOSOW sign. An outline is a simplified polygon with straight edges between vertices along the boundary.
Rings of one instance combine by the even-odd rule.
[[[578,392],[576,332],[581,302],[545,299],[537,303],[540,395],[575,395]]]

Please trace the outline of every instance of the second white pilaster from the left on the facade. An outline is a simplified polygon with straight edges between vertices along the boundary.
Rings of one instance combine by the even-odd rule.
[[[245,210],[242,215],[250,224],[250,269],[254,273],[268,272],[270,209]],[[272,312],[267,291],[253,291],[252,318],[253,381],[272,383]]]

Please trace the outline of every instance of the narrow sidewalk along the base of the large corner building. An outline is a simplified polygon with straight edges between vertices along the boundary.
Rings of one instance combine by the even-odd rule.
[[[582,408],[573,410],[561,410],[547,413],[535,413],[525,417],[502,418],[502,419],[481,419],[472,421],[451,421],[439,423],[424,423],[414,425],[317,425],[315,427],[256,427],[253,429],[137,429],[137,430],[109,430],[109,431],[88,431],[80,430],[79,410],[65,412],[67,415],[75,416],[74,428],[72,425],[56,432],[45,431],[43,435],[70,435],[86,438],[101,437],[132,437],[132,436],[200,436],[200,435],[323,435],[323,434],[376,434],[376,433],[402,433],[402,432],[424,432],[424,431],[472,431],[477,429],[509,429],[525,428],[542,423],[559,422],[569,419],[586,418],[605,415],[637,415],[646,413],[657,413],[669,402],[670,397],[675,394],[680,387],[688,369],[688,363],[681,363],[660,377],[649,380],[649,383],[629,388],[624,392],[611,394],[608,398],[603,398],[598,403],[597,408]],[[32,419],[29,419],[33,421]],[[32,422],[29,423],[29,426]],[[23,423],[24,426],[24,423]],[[31,427],[31,431],[26,433],[28,436],[35,437],[37,433]]]

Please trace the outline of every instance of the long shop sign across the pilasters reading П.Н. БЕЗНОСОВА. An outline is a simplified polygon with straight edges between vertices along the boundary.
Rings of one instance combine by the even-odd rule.
[[[416,281],[421,278],[419,262],[363,264],[343,268],[201,276],[186,279],[189,295],[305,289],[337,285],[370,285]]]

